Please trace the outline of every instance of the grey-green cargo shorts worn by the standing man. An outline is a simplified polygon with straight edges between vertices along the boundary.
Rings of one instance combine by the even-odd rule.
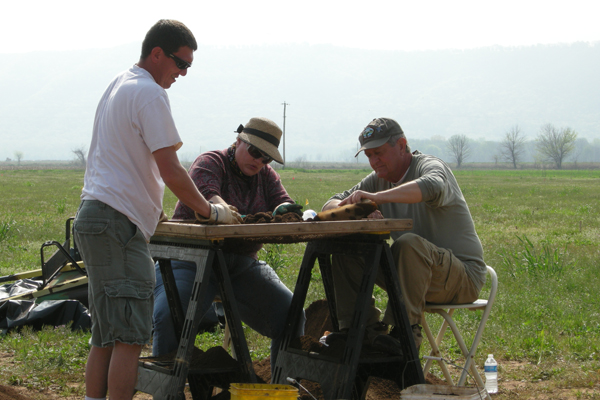
[[[73,229],[88,273],[91,344],[149,343],[156,278],[143,233],[97,200],[81,202]]]

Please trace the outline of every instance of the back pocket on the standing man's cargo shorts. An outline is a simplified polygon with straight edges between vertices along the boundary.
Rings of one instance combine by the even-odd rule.
[[[110,220],[108,219],[75,219],[73,230],[86,266],[105,267],[111,265],[110,243],[107,236],[109,226]]]

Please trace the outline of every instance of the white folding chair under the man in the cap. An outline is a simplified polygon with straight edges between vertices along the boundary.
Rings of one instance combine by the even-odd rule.
[[[429,340],[429,344],[431,345],[430,356],[432,357],[442,357],[439,346],[442,343],[442,339],[444,338],[446,329],[450,327],[450,329],[452,330],[454,338],[456,339],[456,342],[458,343],[463,355],[465,356],[465,364],[462,367],[463,370],[458,381],[458,386],[464,386],[465,381],[467,379],[467,374],[470,371],[479,389],[483,389],[485,387],[483,380],[479,375],[479,372],[477,372],[477,367],[473,361],[473,358],[475,357],[477,346],[479,345],[479,341],[481,340],[481,336],[483,335],[485,323],[487,322],[487,319],[490,316],[490,311],[492,309],[492,305],[494,304],[494,299],[496,297],[496,291],[498,290],[498,277],[496,275],[496,271],[494,271],[494,269],[488,265],[487,272],[492,279],[492,288],[490,290],[490,295],[487,299],[478,299],[475,302],[469,304],[427,304],[425,306],[425,312],[439,314],[444,318],[442,327],[440,328],[440,331],[438,332],[435,338],[433,337],[431,329],[429,328],[429,325],[427,324],[427,321],[425,319],[425,312],[423,313],[423,317],[421,318],[423,330],[425,331],[425,334],[427,335],[427,340]],[[475,334],[475,337],[473,338],[473,342],[471,343],[471,347],[469,349],[465,345],[462,335],[458,331],[456,323],[452,319],[454,311],[460,309],[467,309],[471,311],[483,310],[481,320],[479,321],[479,326],[477,327],[477,332]],[[433,360],[431,359],[428,359],[427,362],[425,362],[425,366],[423,367],[423,374],[427,374],[432,362]],[[446,381],[449,384],[454,385],[452,377],[450,376],[450,373],[448,372],[448,368],[446,367],[444,361],[437,360],[437,363],[439,364],[440,369],[444,374],[444,378],[446,378]],[[490,399],[489,394],[487,395],[487,398]]]

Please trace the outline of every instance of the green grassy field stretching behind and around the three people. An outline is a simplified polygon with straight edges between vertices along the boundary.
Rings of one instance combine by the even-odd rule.
[[[297,202],[319,210],[332,194],[368,172],[286,169],[280,174]],[[600,171],[468,170],[456,176],[486,262],[500,282],[480,364],[493,353],[501,379],[541,383],[548,393],[571,388],[573,398],[600,398]],[[82,182],[79,170],[0,171],[0,275],[39,268],[40,245],[63,240],[64,222],[77,210]],[[167,191],[166,213],[174,207]],[[267,245],[263,259],[293,289],[303,250],[304,244]],[[311,289],[307,304],[324,297],[320,285]],[[385,293],[376,291],[376,297],[384,307]],[[458,324],[469,331],[474,318],[469,313]],[[197,343],[218,345],[221,335],[204,334]],[[264,338],[250,330],[247,338],[255,359],[268,355]],[[89,334],[67,328],[8,334],[0,338],[0,350],[12,361],[0,364],[0,383],[54,388],[65,395],[81,391],[68,383],[82,381],[88,339]],[[460,359],[452,341],[445,345]],[[421,354],[426,352],[424,345]],[[515,364],[522,367],[508,368]],[[502,380],[500,388],[496,398],[514,398],[503,390]]]

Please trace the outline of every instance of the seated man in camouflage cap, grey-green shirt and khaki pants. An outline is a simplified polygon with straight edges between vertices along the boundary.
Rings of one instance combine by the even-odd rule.
[[[414,151],[398,122],[375,118],[360,133],[361,151],[373,172],[352,189],[331,197],[323,210],[370,199],[378,211],[371,218],[411,218],[413,228],[392,232],[396,262],[408,319],[417,348],[421,345],[421,315],[426,302],[470,303],[485,283],[483,248],[467,203],[450,167],[437,157]],[[328,342],[344,338],[352,322],[364,261],[333,257],[333,280],[340,332]],[[376,284],[385,289],[382,276]],[[393,313],[381,311],[372,300],[367,317],[368,344],[399,355],[401,346]],[[388,334],[389,333],[389,334]]]

